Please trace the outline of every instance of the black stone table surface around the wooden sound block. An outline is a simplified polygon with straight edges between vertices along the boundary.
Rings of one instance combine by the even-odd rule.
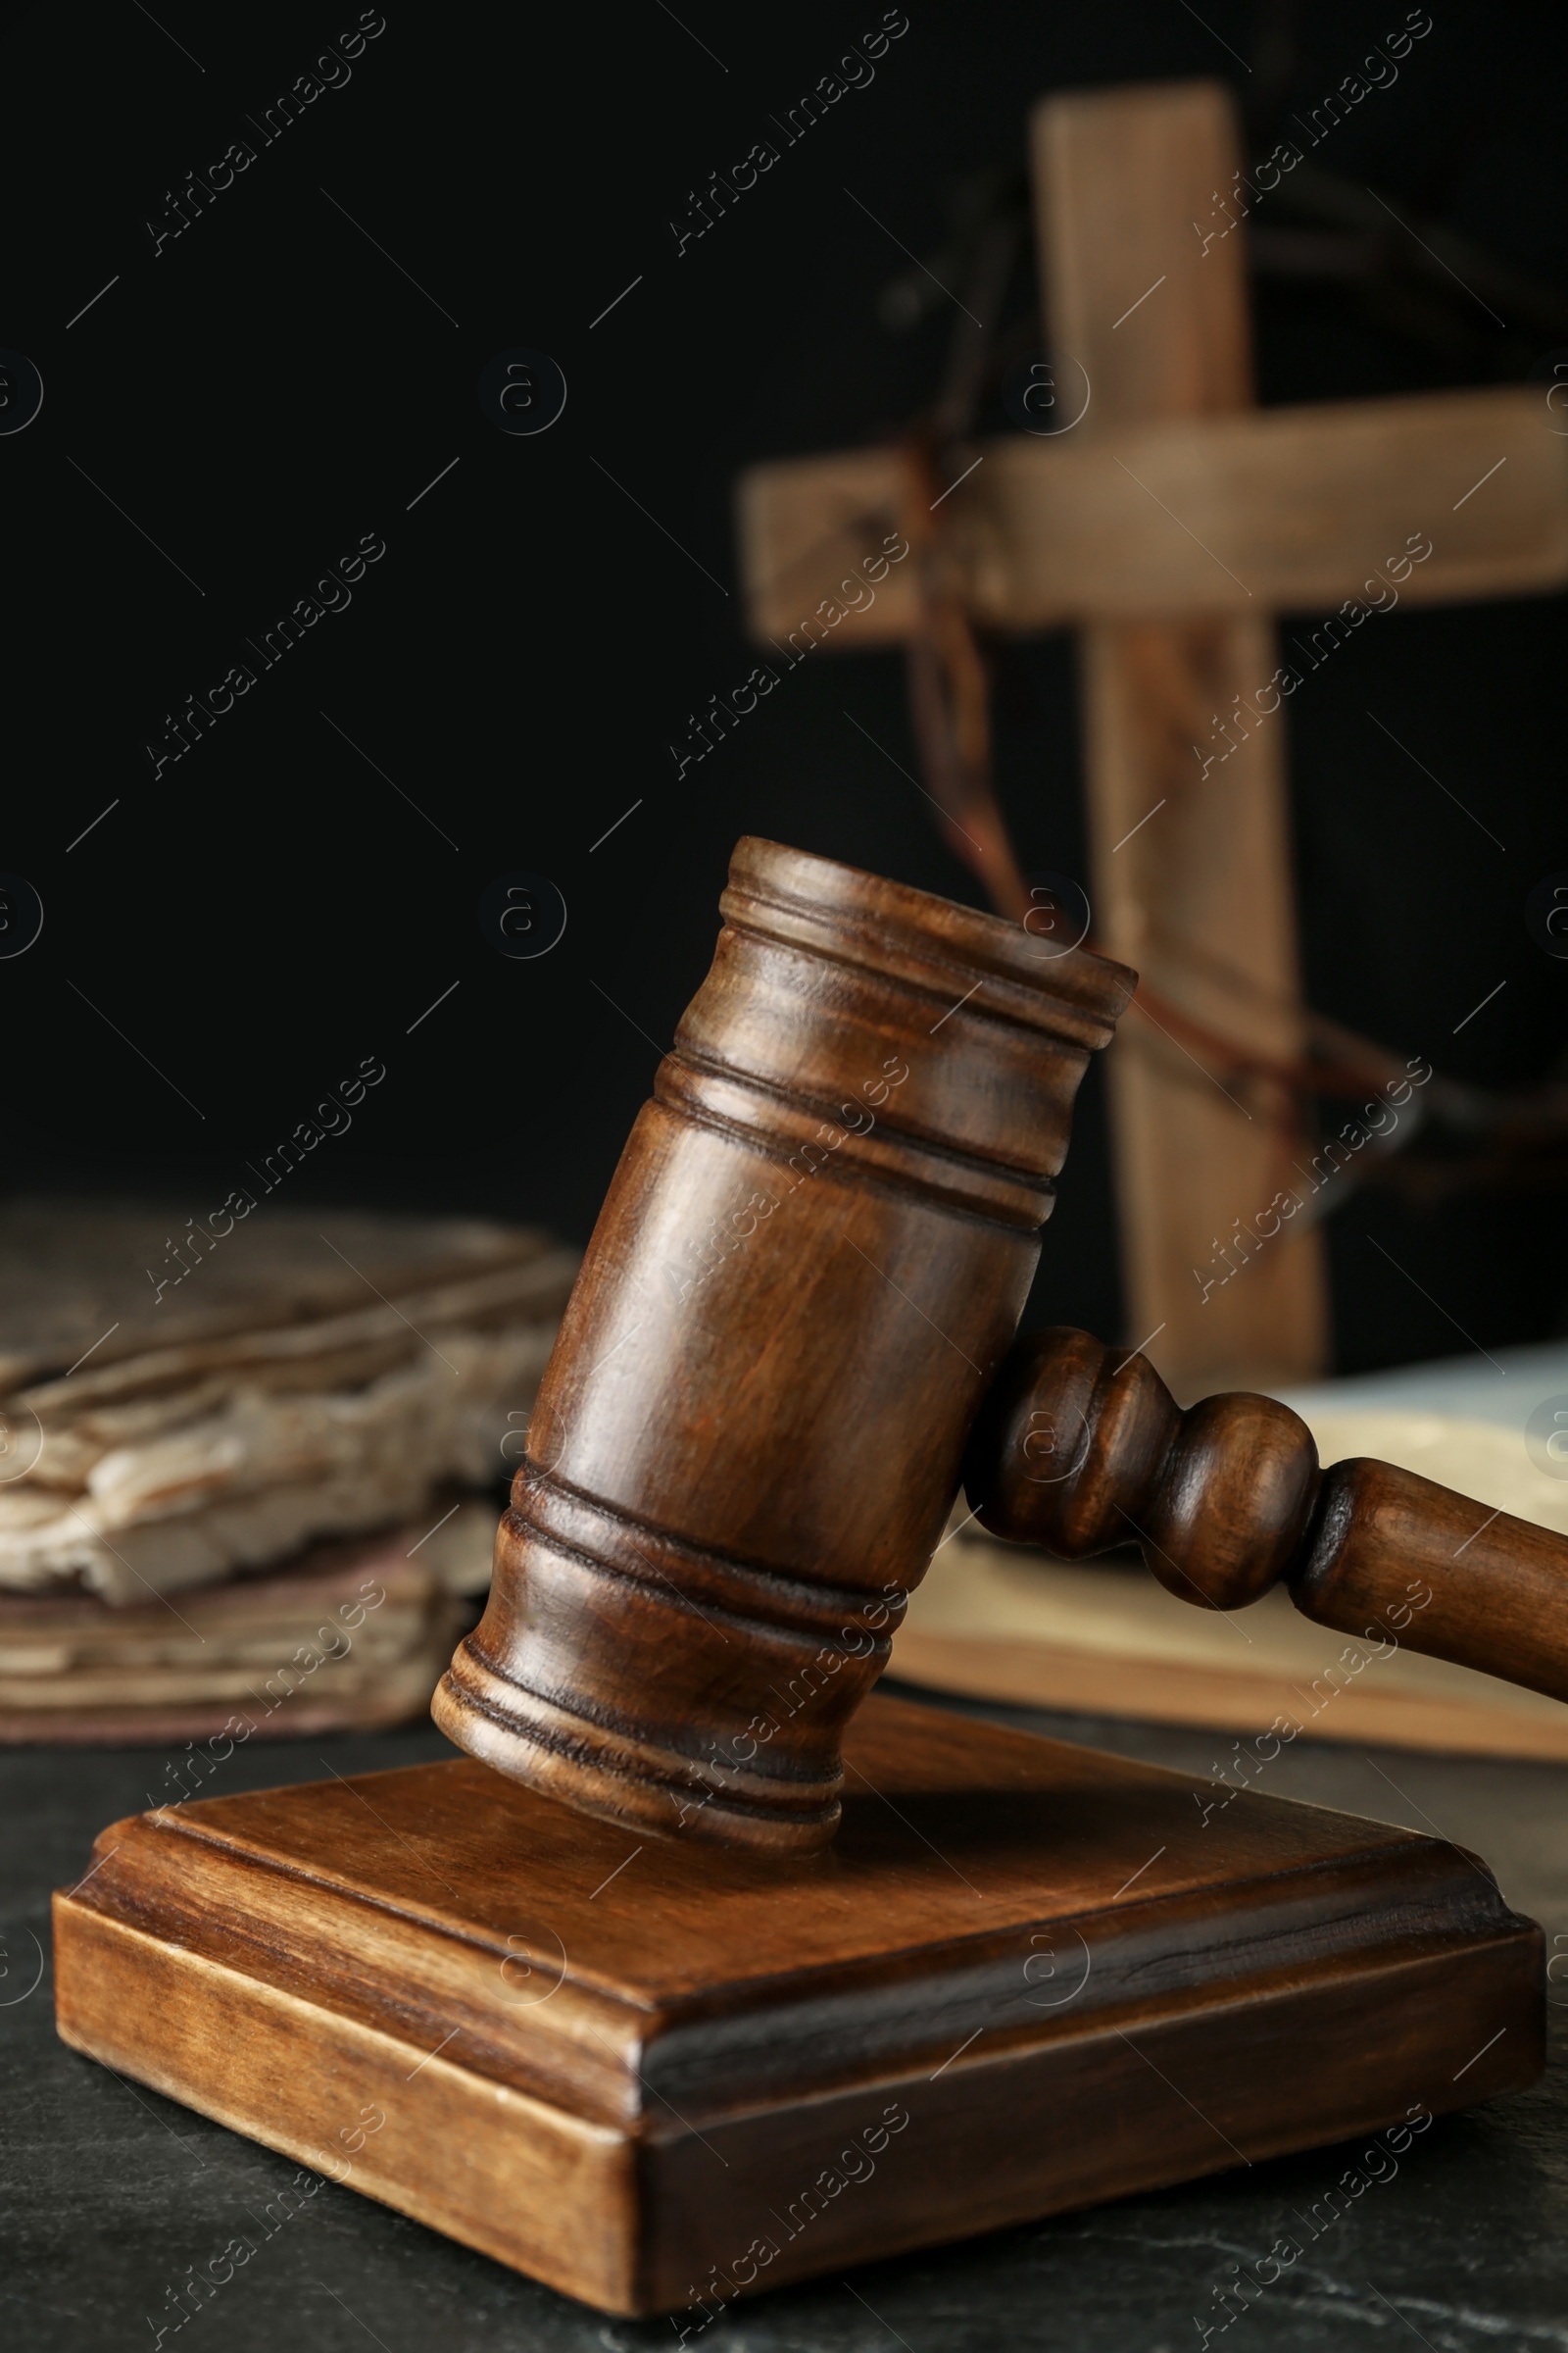
[[[1229,1755],[1229,1741],[1206,1732],[973,1713],[1178,1765],[1201,1781]],[[367,1772],[442,1753],[447,1744],[428,1727],[256,1746],[235,1751],[223,1786],[320,1779],[324,1760]],[[82,1873],[106,1821],[148,1802],[162,1767],[162,1751],[0,1755],[5,2353],[153,2348],[169,2325],[169,2289],[205,2271],[247,2228],[249,2209],[296,2172],[54,2035],[49,1889]],[[1359,2165],[1356,2141],[780,2289],[691,2329],[684,2344],[703,2353],[1197,2353],[1204,2344],[1225,2353],[1413,2353],[1418,2344],[1429,2353],[1568,2353],[1568,1767],[1302,1739],[1272,1762],[1267,1786],[1441,1831],[1488,1859],[1514,1908],[1547,1927],[1549,1948],[1559,1939],[1552,2066],[1533,2092],[1439,2118],[1396,2169],[1387,2158],[1371,2167],[1385,2179],[1368,2181],[1361,2167],[1368,2186],[1309,2242],[1300,2217]],[[1279,2268],[1269,2249],[1291,2238],[1302,2252]],[[1267,2282],[1239,2313],[1220,2301],[1237,2278]],[[642,2353],[677,2346],[682,2325],[604,2320],[324,2184],[162,2344]]]

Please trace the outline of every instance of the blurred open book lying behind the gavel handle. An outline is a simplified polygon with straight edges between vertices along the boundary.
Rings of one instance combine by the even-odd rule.
[[[1514,1348],[1284,1391],[1319,1457],[1375,1454],[1495,1511],[1568,1534],[1568,1461],[1526,1442],[1568,1417],[1568,1346]],[[1568,1428],[1568,1419],[1563,1421]],[[959,1504],[959,1515],[966,1506]],[[1300,1617],[1284,1588],[1248,1609],[1197,1609],[1143,1562],[1058,1562],[961,1529],[914,1591],[891,1673],[938,1692],[1086,1715],[1568,1758],[1568,1706],[1413,1649],[1378,1657]],[[1295,1737],[1295,1734],[1286,1734]]]

